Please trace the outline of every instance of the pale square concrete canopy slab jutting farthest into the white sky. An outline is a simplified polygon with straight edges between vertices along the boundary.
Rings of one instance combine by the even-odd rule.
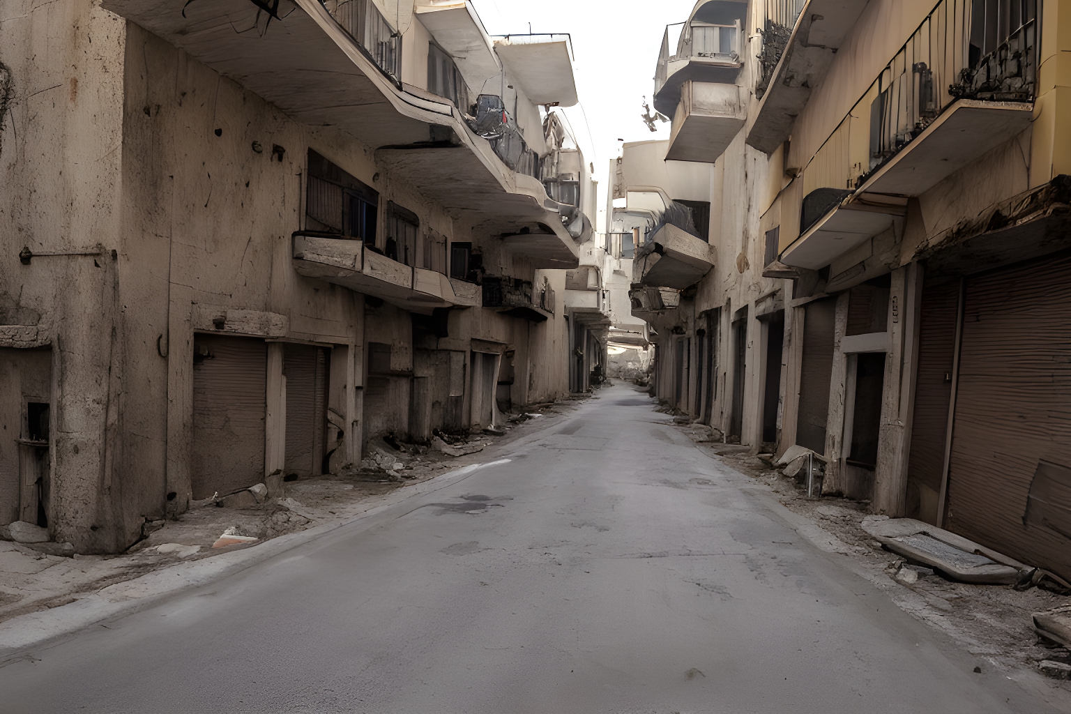
[[[529,36],[507,35],[495,40],[495,49],[510,74],[536,104],[575,105],[578,98],[568,35],[549,35],[564,37],[550,42],[525,42]]]

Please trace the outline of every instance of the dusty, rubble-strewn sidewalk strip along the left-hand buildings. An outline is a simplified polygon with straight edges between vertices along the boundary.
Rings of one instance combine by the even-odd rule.
[[[588,395],[574,395],[504,414],[504,425],[493,430],[500,434],[440,432],[429,445],[390,437],[373,440],[358,468],[322,476],[284,476],[271,497],[242,490],[195,502],[174,520],[147,521],[145,536],[121,555],[52,555],[62,552],[59,544],[0,540],[0,622],[66,605],[180,561],[212,558],[359,516],[399,495],[406,486],[494,458],[508,451],[514,440],[544,428],[586,398]],[[463,452],[469,453],[451,455]],[[5,529],[0,531],[6,537]],[[225,533],[255,540],[213,547]]]

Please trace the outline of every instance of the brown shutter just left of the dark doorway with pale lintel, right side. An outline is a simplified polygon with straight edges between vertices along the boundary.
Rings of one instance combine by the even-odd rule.
[[[836,298],[808,303],[803,316],[803,364],[796,443],[816,454],[826,453],[829,421],[829,380],[833,376],[833,337]]]

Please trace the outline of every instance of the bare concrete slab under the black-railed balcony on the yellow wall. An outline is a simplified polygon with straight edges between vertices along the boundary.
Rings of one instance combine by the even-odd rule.
[[[919,196],[996,146],[1022,134],[1034,105],[960,100],[877,168],[861,192]]]

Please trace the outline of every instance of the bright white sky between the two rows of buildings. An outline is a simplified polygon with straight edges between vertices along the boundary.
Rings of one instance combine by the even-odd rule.
[[[668,123],[659,122],[659,131],[652,133],[639,115],[643,97],[651,101],[665,26],[688,19],[695,0],[472,0],[472,4],[489,34],[528,32],[531,22],[532,32],[572,35],[580,104],[565,109],[565,116],[585,158],[594,162],[601,211],[606,204],[607,162],[620,150],[618,139],[669,138]]]

